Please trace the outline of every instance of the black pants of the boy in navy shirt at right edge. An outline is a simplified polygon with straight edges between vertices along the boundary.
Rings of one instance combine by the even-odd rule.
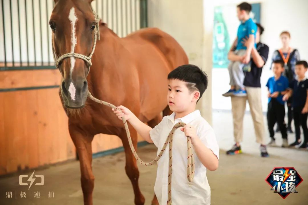
[[[301,129],[302,126],[304,132],[304,143],[308,142],[308,128],[307,128],[307,116],[308,114],[302,114],[302,109],[304,106],[293,108],[293,116],[294,116],[294,125],[295,125],[295,136],[296,140],[301,138]]]

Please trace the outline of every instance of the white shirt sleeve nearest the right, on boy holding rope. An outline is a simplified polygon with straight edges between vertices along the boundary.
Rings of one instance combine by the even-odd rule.
[[[201,142],[217,156],[219,161],[219,146],[213,128],[211,126],[202,126],[198,130],[198,136]]]

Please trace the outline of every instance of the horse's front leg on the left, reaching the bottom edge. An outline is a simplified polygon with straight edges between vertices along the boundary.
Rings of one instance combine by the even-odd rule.
[[[94,189],[94,175],[92,172],[92,147],[93,135],[90,135],[77,127],[69,127],[71,138],[75,144],[81,171],[81,187],[84,205],[92,205],[92,193]]]

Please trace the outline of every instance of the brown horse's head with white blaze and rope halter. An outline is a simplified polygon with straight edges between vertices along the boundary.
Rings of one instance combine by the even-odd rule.
[[[61,96],[67,108],[82,108],[87,100],[86,78],[98,32],[92,1],[55,0],[49,21],[56,67],[63,77]]]

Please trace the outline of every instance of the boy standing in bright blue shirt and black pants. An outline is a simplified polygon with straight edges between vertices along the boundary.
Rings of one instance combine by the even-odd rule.
[[[266,83],[268,87],[268,108],[267,108],[267,124],[270,132],[270,146],[275,145],[275,132],[274,125],[277,122],[281,130],[282,135],[282,147],[288,146],[287,130],[284,121],[285,118],[285,102],[282,100],[282,96],[288,91],[289,80],[282,76],[284,72],[284,62],[282,60],[276,60],[273,62],[274,77],[270,77]]]

